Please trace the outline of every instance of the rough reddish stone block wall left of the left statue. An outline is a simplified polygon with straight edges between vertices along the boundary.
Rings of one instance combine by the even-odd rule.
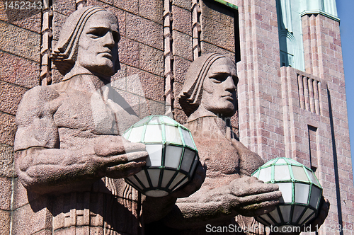
[[[13,218],[16,110],[23,93],[39,84],[40,26],[40,10],[19,13],[0,2],[0,234],[10,234]]]

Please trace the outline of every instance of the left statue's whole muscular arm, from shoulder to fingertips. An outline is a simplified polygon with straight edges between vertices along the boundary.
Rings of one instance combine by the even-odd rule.
[[[60,149],[53,115],[62,97],[47,86],[23,96],[18,108],[16,171],[25,188],[35,193],[79,190],[103,176],[123,178],[137,173],[147,157],[144,144],[120,136],[98,135],[81,149]]]

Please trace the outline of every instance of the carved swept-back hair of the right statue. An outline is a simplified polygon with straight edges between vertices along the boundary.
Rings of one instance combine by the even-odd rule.
[[[205,54],[190,64],[185,74],[182,91],[178,96],[178,102],[187,116],[190,116],[200,105],[200,101],[202,100],[202,84],[212,63],[224,57],[224,55],[219,53]]]

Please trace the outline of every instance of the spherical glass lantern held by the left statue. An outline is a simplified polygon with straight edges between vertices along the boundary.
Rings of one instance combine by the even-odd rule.
[[[198,151],[190,131],[170,117],[152,115],[132,125],[125,134],[141,142],[149,157],[142,171],[125,181],[150,197],[169,195],[188,183],[198,164]]]

